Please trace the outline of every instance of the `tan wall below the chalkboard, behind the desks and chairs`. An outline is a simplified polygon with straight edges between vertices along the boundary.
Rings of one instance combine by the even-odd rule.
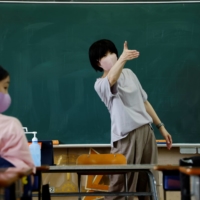
[[[109,153],[110,148],[94,148],[99,153]],[[165,147],[158,148],[158,164],[179,164],[179,159],[184,157],[195,156],[198,154],[180,154],[179,147],[173,147],[167,150]],[[55,164],[75,164],[76,158],[81,154],[88,154],[89,148],[55,148],[54,149],[54,163]],[[68,180],[69,179],[69,180]],[[76,174],[44,174],[43,183],[49,183],[50,187],[60,191],[67,185],[68,190],[73,190],[77,187]],[[65,186],[63,185],[65,183]],[[82,189],[85,185],[85,177],[82,178]],[[67,189],[67,188],[66,188]],[[63,192],[63,191],[62,191]],[[162,174],[159,173],[159,192],[160,200],[163,200],[162,190]],[[36,198],[35,198],[36,199]],[[52,200],[77,200],[76,197],[51,197]],[[137,199],[137,198],[136,198]],[[167,200],[180,199],[180,192],[167,192]]]

